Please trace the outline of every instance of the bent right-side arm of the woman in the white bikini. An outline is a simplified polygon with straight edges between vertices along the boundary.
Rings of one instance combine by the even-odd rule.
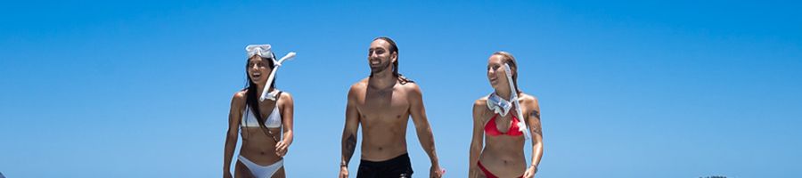
[[[290,148],[290,144],[292,144],[292,123],[293,123],[293,110],[295,107],[294,101],[292,101],[292,95],[290,93],[282,93],[279,96],[279,100],[282,106],[282,142],[278,142],[275,145],[275,154],[279,157],[283,157],[287,155],[287,151]],[[277,103],[279,104],[279,103]]]

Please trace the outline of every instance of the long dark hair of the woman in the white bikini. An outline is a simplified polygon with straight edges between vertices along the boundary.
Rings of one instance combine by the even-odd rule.
[[[275,56],[275,54],[273,56]],[[251,56],[251,57],[253,57],[253,56]],[[257,56],[257,57],[260,58],[260,60],[267,61],[267,67],[270,68],[271,71],[273,69],[275,69],[274,63],[273,63],[273,59],[271,59],[271,58],[263,58],[263,57],[260,57],[260,56]],[[259,127],[262,127],[262,131],[265,131],[265,130],[267,130],[267,127],[265,126],[265,119],[262,118],[262,113],[259,112],[259,95],[258,95],[259,91],[258,91],[256,83],[254,83],[253,80],[250,78],[250,74],[248,73],[248,68],[250,68],[250,58],[248,58],[245,61],[245,77],[248,80],[248,85],[245,85],[245,89],[243,89],[243,90],[247,90],[246,93],[245,93],[245,104],[250,108],[251,113],[253,113],[253,115],[256,115],[254,117],[257,118],[257,122],[259,123]],[[275,77],[273,79],[274,79],[273,84],[271,84],[270,87],[273,87],[275,89]],[[276,102],[275,104],[278,104],[278,102]],[[276,106],[276,107],[278,107],[278,106]],[[247,121],[248,119],[245,119],[245,120]],[[267,134],[267,133],[265,133],[265,134]],[[271,135],[271,134],[268,134],[268,135]]]

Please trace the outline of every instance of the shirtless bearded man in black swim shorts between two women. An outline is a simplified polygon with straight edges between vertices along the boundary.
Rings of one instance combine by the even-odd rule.
[[[345,129],[342,131],[340,178],[348,177],[348,162],[356,149],[356,131],[362,125],[362,160],[356,177],[412,177],[406,151],[406,125],[415,131],[431,161],[430,177],[441,177],[421,88],[398,74],[398,47],[389,37],[373,39],[368,51],[371,76],[348,91]]]

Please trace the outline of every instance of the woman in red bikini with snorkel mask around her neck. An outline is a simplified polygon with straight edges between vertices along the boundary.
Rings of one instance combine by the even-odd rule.
[[[537,173],[543,157],[540,107],[534,96],[518,89],[517,70],[510,53],[493,53],[487,61],[487,79],[495,91],[473,103],[470,177],[528,178]],[[530,164],[524,156],[528,138],[532,139]]]

